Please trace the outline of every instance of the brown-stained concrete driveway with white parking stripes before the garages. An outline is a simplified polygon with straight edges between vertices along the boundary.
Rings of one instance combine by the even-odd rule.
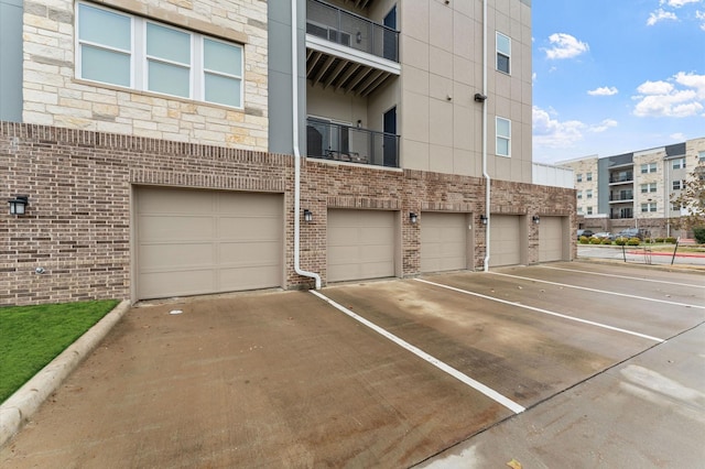
[[[0,462],[697,467],[704,280],[573,262],[135,307]]]

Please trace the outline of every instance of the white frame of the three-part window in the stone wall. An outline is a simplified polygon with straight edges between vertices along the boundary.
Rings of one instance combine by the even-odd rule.
[[[188,30],[184,30],[181,28],[175,28],[172,26],[170,24],[165,24],[165,23],[161,23],[159,21],[153,21],[151,19],[147,19],[147,18],[142,18],[142,17],[138,17],[134,14],[129,14],[129,13],[124,13],[121,11],[117,11],[117,10],[112,10],[110,8],[105,8],[102,6],[98,6],[95,3],[89,3],[89,2],[77,2],[76,3],[76,14],[75,14],[75,59],[76,59],[76,78],[77,79],[82,79],[82,80],[87,80],[87,81],[91,81],[91,83],[96,83],[96,84],[102,84],[102,85],[107,85],[107,86],[115,86],[115,87],[119,87],[119,88],[126,88],[123,85],[116,85],[112,83],[106,83],[106,81],[98,81],[98,80],[94,80],[90,78],[85,78],[83,76],[83,59],[82,59],[82,45],[83,44],[88,44],[90,45],[90,43],[87,43],[86,41],[83,41],[79,37],[79,22],[80,22],[80,6],[86,6],[86,7],[90,7],[90,8],[95,8],[98,10],[104,10],[113,14],[119,14],[126,18],[130,19],[130,23],[131,23],[131,51],[117,51],[123,54],[128,54],[130,55],[130,86],[127,87],[129,89],[134,89],[134,90],[139,90],[139,91],[145,91],[145,92],[150,92],[150,94],[155,94],[155,95],[160,95],[160,96],[172,96],[178,99],[189,99],[189,100],[194,100],[194,101],[200,101],[200,102],[207,102],[207,103],[212,103],[212,105],[216,105],[216,106],[225,106],[228,108],[235,108],[235,109],[243,109],[245,108],[245,46],[242,44],[239,43],[235,43],[235,42],[229,42],[229,41],[223,41],[218,37],[214,37],[214,36],[208,36],[205,34],[200,34],[197,32],[193,32],[193,31],[188,31]],[[191,37],[191,64],[188,64],[188,87],[189,87],[189,91],[188,91],[188,97],[183,97],[183,96],[177,96],[177,95],[170,95],[170,94],[164,94],[164,92],[160,92],[160,91],[155,91],[155,90],[150,90],[149,89],[149,57],[147,56],[147,25],[148,24],[155,24],[159,26],[163,26],[166,29],[171,29],[174,31],[180,31],[183,33],[186,33],[189,35]],[[223,44],[227,44],[228,46],[231,47],[237,47],[240,50],[240,76],[237,75],[231,75],[231,74],[226,74],[224,72],[219,72],[219,70],[209,70],[209,69],[205,69],[204,68],[204,40],[210,40],[214,42],[220,42]],[[100,45],[98,44],[98,46],[101,46],[102,48],[106,50],[111,50],[110,47],[106,47],[105,45]],[[169,61],[163,61],[163,59],[159,59],[160,62],[164,62],[166,64],[171,64]],[[183,64],[176,64],[178,66],[183,66]],[[220,76],[225,76],[228,78],[231,78],[234,80],[239,80],[239,88],[240,88],[240,92],[239,96],[237,97],[237,101],[238,105],[237,106],[232,106],[232,105],[228,105],[228,103],[223,103],[223,102],[217,102],[217,101],[207,101],[205,99],[206,96],[206,89],[205,89],[205,75],[206,73],[210,73],[210,74],[217,74]]]

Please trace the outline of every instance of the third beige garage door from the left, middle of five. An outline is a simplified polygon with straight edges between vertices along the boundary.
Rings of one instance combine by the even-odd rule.
[[[465,214],[421,214],[421,272],[467,269]]]

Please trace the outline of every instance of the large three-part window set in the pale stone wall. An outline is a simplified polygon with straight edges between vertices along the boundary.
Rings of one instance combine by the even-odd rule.
[[[242,107],[242,46],[78,3],[76,76]]]

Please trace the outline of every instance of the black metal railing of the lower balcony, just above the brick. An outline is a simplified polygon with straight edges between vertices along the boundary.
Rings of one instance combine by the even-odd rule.
[[[399,135],[308,118],[307,156],[399,167]]]

